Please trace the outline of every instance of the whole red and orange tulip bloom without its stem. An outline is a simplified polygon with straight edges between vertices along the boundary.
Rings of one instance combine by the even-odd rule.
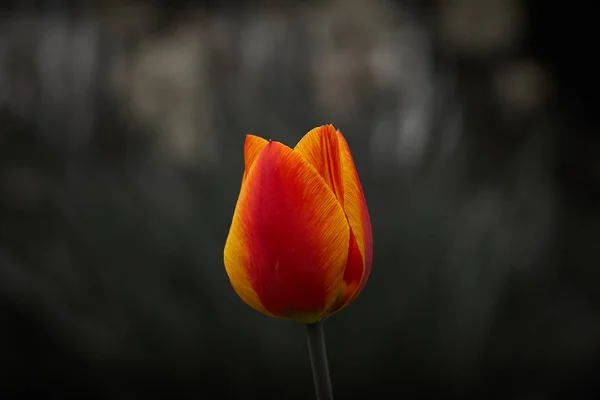
[[[235,292],[267,315],[311,324],[352,302],[371,271],[371,221],[346,140],[332,125],[294,149],[247,135],[225,244]]]

